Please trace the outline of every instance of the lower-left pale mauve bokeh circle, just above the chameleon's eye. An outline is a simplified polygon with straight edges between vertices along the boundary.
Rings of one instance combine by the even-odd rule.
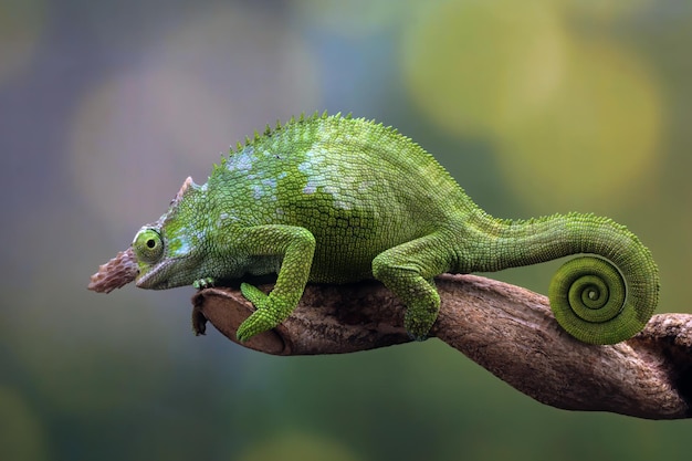
[[[175,97],[165,99],[171,88]],[[178,143],[196,138],[193,114],[178,104],[199,103],[200,93],[193,81],[154,71],[106,80],[83,98],[70,151],[74,185],[96,213],[118,227],[123,217],[136,217],[137,209],[166,211],[156,191],[169,185],[168,195],[174,197],[172,185],[185,180],[176,168],[176,158],[185,151],[185,144]],[[211,107],[205,108],[209,114]],[[200,126],[203,130],[206,125]],[[133,235],[144,222],[135,224],[125,224]]]

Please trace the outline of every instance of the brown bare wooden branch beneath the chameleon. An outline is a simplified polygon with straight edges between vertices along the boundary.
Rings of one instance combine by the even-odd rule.
[[[594,346],[565,333],[543,295],[474,275],[445,274],[437,285],[442,307],[431,335],[530,397],[569,410],[692,417],[692,315],[656,315],[633,338]],[[233,342],[253,311],[231,289],[200,291],[192,303],[196,333],[209,319]],[[284,323],[242,345],[274,355],[352,353],[409,342],[402,325],[403,307],[378,283],[308,285]]]

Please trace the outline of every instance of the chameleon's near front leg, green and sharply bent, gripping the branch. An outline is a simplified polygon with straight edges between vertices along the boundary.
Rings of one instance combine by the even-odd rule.
[[[253,312],[238,328],[241,342],[258,333],[274,328],[295,308],[310,275],[315,238],[305,228],[295,226],[258,226],[248,228],[243,234],[250,258],[283,256],[276,284],[269,295],[258,287],[243,283],[240,290],[254,306]]]

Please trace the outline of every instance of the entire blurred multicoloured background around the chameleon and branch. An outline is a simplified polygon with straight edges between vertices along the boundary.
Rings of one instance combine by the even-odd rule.
[[[0,0],[2,459],[689,459],[692,422],[545,407],[437,339],[271,357],[193,337],[191,287],[85,287],[188,175],[328,109],[495,216],[626,223],[692,312],[691,44],[688,0]]]

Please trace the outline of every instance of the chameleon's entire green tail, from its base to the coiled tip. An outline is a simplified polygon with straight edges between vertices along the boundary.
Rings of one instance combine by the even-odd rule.
[[[651,252],[626,227],[608,218],[569,213],[499,221],[485,216],[476,229],[490,231],[494,244],[490,259],[481,259],[485,262],[474,270],[581,254],[557,270],[548,289],[555,318],[579,340],[615,344],[629,339],[653,314],[659,275]]]

